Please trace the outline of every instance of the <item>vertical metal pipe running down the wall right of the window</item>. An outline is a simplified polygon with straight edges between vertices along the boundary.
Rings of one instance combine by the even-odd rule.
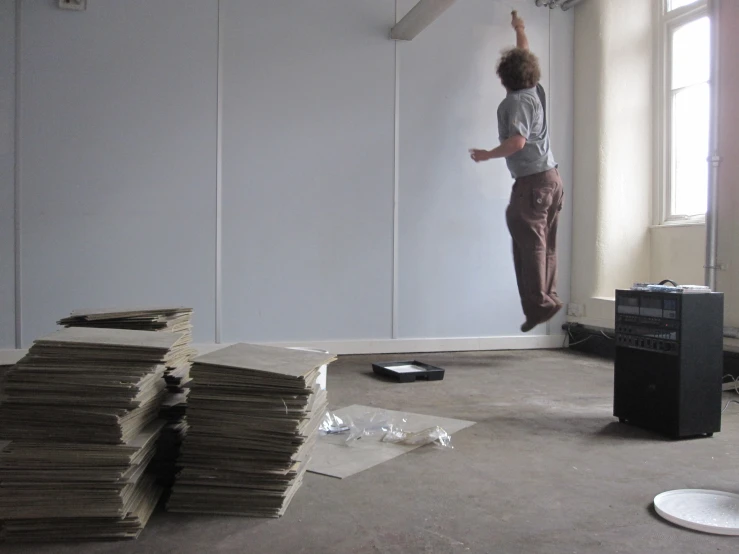
[[[719,4],[711,1],[711,131],[708,157],[708,205],[706,208],[706,286],[716,290],[716,271],[718,270],[718,170],[719,156]]]

